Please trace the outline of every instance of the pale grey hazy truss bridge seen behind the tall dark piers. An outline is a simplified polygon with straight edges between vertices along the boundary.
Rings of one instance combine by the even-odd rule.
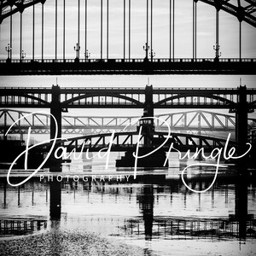
[[[26,134],[29,127],[32,134],[49,134],[50,116],[46,113],[33,113],[15,109],[0,110],[0,132],[3,134],[9,126],[20,119],[19,122],[9,131],[9,134]],[[176,112],[154,115],[159,118],[154,122],[156,131],[166,131],[167,127],[163,121],[166,121],[172,131],[185,131],[196,133],[199,131],[236,131],[236,117],[223,113],[214,113],[209,111],[194,110],[188,112]],[[21,119],[23,118],[23,119]],[[139,119],[139,116],[69,116],[61,117],[62,134],[86,134],[121,131],[125,127],[127,131],[134,131],[136,127],[131,124]],[[256,119],[248,119],[248,130],[256,127]]]

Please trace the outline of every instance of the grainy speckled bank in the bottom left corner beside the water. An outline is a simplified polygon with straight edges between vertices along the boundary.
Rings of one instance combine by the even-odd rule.
[[[51,230],[33,236],[15,236],[0,240],[2,256],[96,256],[96,255],[154,255],[143,248],[96,236],[81,230]]]

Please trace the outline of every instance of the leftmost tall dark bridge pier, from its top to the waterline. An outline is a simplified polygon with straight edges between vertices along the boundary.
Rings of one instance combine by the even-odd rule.
[[[57,137],[61,138],[61,88],[59,87],[59,85],[52,86],[50,113],[55,117],[57,122],[57,127],[56,127],[54,119],[50,117],[50,138],[53,139],[55,137],[56,129],[57,129]],[[53,154],[50,156],[50,162],[49,162],[50,172],[61,172],[61,160],[55,159],[55,156],[54,156],[54,152],[57,147],[58,146],[55,145]]]

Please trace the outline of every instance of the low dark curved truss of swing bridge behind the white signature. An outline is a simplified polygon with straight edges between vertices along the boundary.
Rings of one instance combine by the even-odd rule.
[[[110,143],[111,138],[113,141]],[[107,149],[108,147],[111,148],[111,152],[120,152],[135,150],[137,146],[139,148],[145,148],[144,142],[147,138],[147,134],[140,134],[137,131],[121,131],[67,138],[56,142],[56,146],[59,145],[61,148],[66,148],[66,152],[73,153],[88,151],[99,152],[100,150]],[[204,152],[212,152],[214,148],[224,148],[225,144],[227,143],[227,139],[223,138],[206,137],[177,132],[172,132],[171,136],[168,136],[168,133],[166,132],[155,131],[154,133],[150,134],[150,139],[154,142],[154,145],[148,148],[151,148],[152,150],[160,147],[160,145],[166,141],[166,143],[161,147],[162,150],[168,151],[171,147],[171,143],[173,143],[173,147],[180,152],[187,152],[188,150],[196,152],[197,148],[203,148]],[[39,147],[45,148],[45,150],[49,152],[49,143]],[[230,147],[237,147],[237,143],[230,140],[227,148]]]

